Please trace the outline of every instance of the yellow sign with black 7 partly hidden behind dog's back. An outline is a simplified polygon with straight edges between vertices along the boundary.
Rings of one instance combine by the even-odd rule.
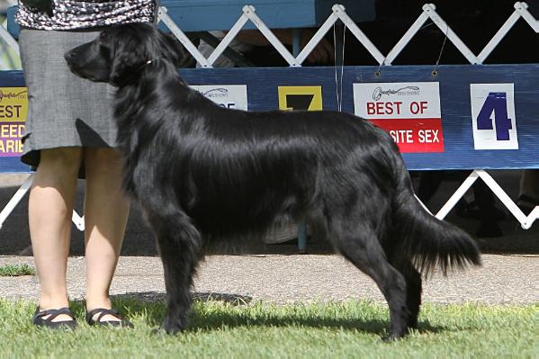
[[[280,110],[322,110],[322,86],[279,86]]]

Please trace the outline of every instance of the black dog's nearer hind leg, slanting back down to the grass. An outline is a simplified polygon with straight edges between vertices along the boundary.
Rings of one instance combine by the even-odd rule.
[[[330,225],[330,237],[340,254],[373,278],[390,308],[390,339],[406,334],[409,310],[406,303],[406,280],[386,258],[375,231],[361,224]]]

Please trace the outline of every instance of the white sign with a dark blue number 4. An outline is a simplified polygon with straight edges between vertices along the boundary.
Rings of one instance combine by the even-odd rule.
[[[513,84],[471,84],[475,149],[518,149]]]

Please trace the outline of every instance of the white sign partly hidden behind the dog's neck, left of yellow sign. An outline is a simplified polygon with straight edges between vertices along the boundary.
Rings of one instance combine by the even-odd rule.
[[[192,85],[191,88],[222,107],[247,111],[247,85]]]

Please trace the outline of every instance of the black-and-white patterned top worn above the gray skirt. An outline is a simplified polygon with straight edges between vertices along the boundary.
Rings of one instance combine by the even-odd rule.
[[[129,22],[154,22],[157,0],[54,0],[52,16],[19,2],[15,21],[39,30],[75,30]]]

